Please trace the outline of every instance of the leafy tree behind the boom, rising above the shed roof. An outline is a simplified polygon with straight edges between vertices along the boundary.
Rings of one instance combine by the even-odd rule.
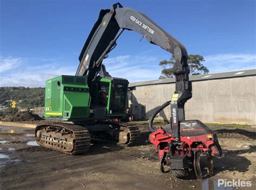
[[[201,55],[188,55],[187,63],[190,66],[190,75],[208,74],[209,70],[205,67],[204,57]],[[163,67],[159,79],[173,78],[173,65],[175,64],[174,56],[172,55],[170,61],[163,60],[159,65]]]

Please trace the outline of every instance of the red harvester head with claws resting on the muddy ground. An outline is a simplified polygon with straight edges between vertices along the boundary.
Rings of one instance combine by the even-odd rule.
[[[149,140],[157,148],[160,171],[164,173],[168,166],[178,178],[187,177],[190,171],[194,171],[197,179],[212,176],[212,156],[224,156],[217,135],[198,120],[180,122],[179,133],[180,138],[177,140],[171,124],[167,124],[150,134]],[[200,165],[201,156],[207,160],[206,168]]]

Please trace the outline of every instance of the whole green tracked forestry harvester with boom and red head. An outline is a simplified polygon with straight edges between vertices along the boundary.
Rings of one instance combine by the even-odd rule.
[[[179,177],[194,167],[200,178],[199,156],[204,153],[210,163],[208,174],[211,174],[212,154],[221,156],[218,139],[203,123],[185,121],[184,104],[192,97],[185,47],[143,13],[123,8],[120,3],[100,11],[80,53],[76,75],[61,75],[46,81],[47,122],[36,127],[37,143],[66,154],[79,154],[89,149],[91,139],[127,146],[139,142],[137,126],[113,122],[125,117],[129,82],[113,78],[103,65],[124,30],[138,32],[176,59],[176,92],[172,101],[156,110],[150,120],[150,129],[154,131],[154,117],[171,104],[171,124],[150,135],[150,142],[157,147],[161,171],[164,172],[167,165]]]

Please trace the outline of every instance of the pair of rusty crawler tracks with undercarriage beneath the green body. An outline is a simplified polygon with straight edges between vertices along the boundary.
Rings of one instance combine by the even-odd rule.
[[[113,133],[119,134],[123,131],[127,134],[127,141],[119,143],[117,137],[111,137],[104,131],[90,133],[86,126],[67,123],[43,123],[37,125],[35,136],[39,145],[48,149],[56,150],[65,154],[82,154],[90,147],[90,140],[118,143],[123,146],[136,146],[140,142],[140,131],[138,126],[126,126],[123,124],[105,122],[110,124]]]

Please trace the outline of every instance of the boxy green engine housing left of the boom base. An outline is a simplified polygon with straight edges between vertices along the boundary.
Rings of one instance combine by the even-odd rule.
[[[90,102],[85,76],[61,75],[46,81],[45,117],[87,118]]]

